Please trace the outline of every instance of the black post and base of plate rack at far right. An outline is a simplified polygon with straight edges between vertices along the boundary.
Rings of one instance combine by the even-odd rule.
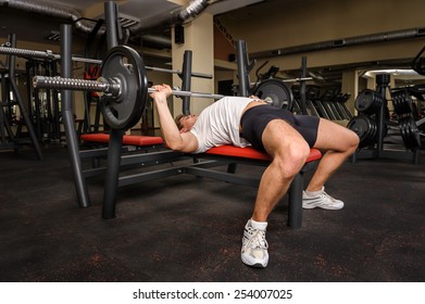
[[[372,148],[358,150],[352,156],[352,163],[355,163],[360,159],[395,159],[395,160],[407,160],[412,161],[413,164],[420,163],[420,149],[400,150],[400,149],[384,149],[384,137],[385,137],[385,111],[387,106],[386,92],[390,80],[389,74],[376,75],[376,91],[384,98],[379,111],[376,115],[377,118],[377,141]]]

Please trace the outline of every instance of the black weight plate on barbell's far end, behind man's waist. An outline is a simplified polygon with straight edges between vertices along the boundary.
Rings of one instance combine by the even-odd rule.
[[[261,81],[253,94],[276,107],[292,111],[292,91],[279,79],[270,78]]]

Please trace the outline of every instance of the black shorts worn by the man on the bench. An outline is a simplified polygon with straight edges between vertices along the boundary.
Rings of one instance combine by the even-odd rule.
[[[293,115],[285,109],[268,104],[253,106],[243,113],[240,119],[241,137],[248,140],[254,149],[265,151],[261,137],[267,124],[274,119],[284,119],[289,123],[305,139],[310,148],[316,142],[318,117]]]

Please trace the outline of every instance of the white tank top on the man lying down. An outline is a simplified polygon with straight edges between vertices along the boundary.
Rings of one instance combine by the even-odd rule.
[[[225,97],[205,107],[190,129],[198,139],[195,153],[223,144],[250,145],[239,136],[239,124],[245,107],[251,101],[246,97]]]

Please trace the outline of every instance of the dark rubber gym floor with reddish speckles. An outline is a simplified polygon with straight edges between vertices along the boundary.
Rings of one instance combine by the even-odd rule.
[[[424,154],[418,165],[345,163],[326,188],[345,208],[307,210],[301,229],[287,227],[284,199],[268,221],[270,264],[257,269],[240,261],[255,188],[190,175],[147,181],[120,188],[107,220],[102,179],[88,182],[92,204],[82,208],[66,149],[42,153],[0,153],[1,281],[425,281]]]

